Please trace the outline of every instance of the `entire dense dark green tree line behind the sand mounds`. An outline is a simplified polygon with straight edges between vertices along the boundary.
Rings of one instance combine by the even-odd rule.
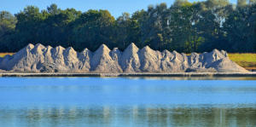
[[[176,0],[148,6],[114,18],[108,10],[81,12],[51,4],[39,10],[27,6],[13,15],[0,12],[0,52],[16,52],[28,43],[76,50],[96,50],[102,43],[123,50],[130,43],[139,48],[205,52],[256,52],[256,0]]]

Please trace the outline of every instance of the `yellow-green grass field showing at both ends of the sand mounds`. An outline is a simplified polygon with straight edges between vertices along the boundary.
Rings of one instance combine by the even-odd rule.
[[[14,55],[14,53],[0,53],[0,57],[4,55]],[[238,65],[246,69],[256,69],[256,54],[244,53],[230,53],[230,60],[235,61]]]

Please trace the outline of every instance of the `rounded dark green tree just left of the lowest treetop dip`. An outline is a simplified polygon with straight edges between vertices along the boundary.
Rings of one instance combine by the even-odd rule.
[[[81,14],[75,21],[73,41],[77,49],[84,47],[95,50],[102,43],[113,48],[114,18],[108,10],[92,10]]]

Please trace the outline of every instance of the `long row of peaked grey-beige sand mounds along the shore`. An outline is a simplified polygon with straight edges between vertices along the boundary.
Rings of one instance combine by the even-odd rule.
[[[15,55],[0,58],[2,72],[247,72],[230,61],[224,50],[201,55],[163,52],[148,46],[138,49],[131,43],[124,52],[105,44],[93,53],[84,49],[44,47],[28,44]]]

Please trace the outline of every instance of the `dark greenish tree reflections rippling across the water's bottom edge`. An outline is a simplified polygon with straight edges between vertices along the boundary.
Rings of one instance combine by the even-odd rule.
[[[1,126],[256,126],[255,107],[36,107],[0,110]]]

